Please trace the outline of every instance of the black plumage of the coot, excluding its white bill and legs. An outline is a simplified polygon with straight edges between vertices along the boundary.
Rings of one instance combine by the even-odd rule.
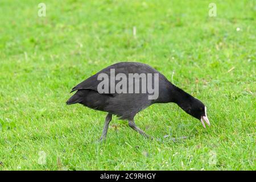
[[[159,97],[155,100],[148,100],[148,93],[99,93],[97,86],[101,80],[97,80],[97,77],[100,73],[106,73],[106,75],[110,76],[110,69],[114,69],[115,74],[124,73],[126,76],[129,73],[158,73]],[[205,106],[201,101],[177,88],[162,73],[143,63],[123,62],[110,65],[76,85],[71,92],[75,91],[77,92],[67,101],[68,105],[79,103],[95,110],[106,111],[110,115],[114,114],[121,119],[129,121],[133,121],[134,116],[146,107],[155,103],[167,102],[176,103],[181,109],[197,119],[201,119],[203,115],[206,115]]]

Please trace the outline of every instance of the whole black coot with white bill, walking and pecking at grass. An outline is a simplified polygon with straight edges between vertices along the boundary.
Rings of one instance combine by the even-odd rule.
[[[118,80],[121,80],[120,77],[119,79],[117,77],[113,78],[113,71],[115,74],[114,76],[117,76],[118,73],[122,73],[122,81],[125,76],[129,78],[131,73],[132,75],[138,73],[138,75],[141,77],[137,75],[133,77],[133,82],[130,82],[130,80],[128,83],[123,82],[123,85],[120,86],[120,88],[123,90],[122,92],[119,92],[118,90],[111,90],[113,85],[117,85]],[[154,89],[159,92],[158,97],[153,99],[149,98],[149,96],[152,96],[152,92],[143,92],[145,85],[143,85],[144,77],[142,75],[150,75],[150,73],[152,76],[154,76],[154,74],[155,76],[158,75],[158,80],[156,80],[158,82],[152,81],[152,77],[147,77],[146,79],[147,81],[151,80],[152,88],[154,87]],[[106,92],[99,90],[99,84],[102,84],[103,80],[102,77],[109,78],[106,80],[109,85],[101,87],[102,89],[105,89]],[[139,88],[139,92],[138,90],[137,92],[134,91],[136,90],[135,83],[142,85]],[[148,82],[146,83],[148,84]],[[127,90],[131,88],[130,91],[132,92],[126,92],[125,86],[127,86]],[[156,88],[157,86],[158,90]],[[71,98],[69,98],[67,101],[68,105],[79,103],[94,110],[105,111],[108,113],[108,115],[106,115],[101,140],[106,138],[109,123],[112,120],[113,114],[117,115],[119,119],[127,119],[129,121],[129,126],[132,129],[138,131],[138,133],[144,137],[148,137],[144,131],[135,125],[134,116],[139,111],[155,103],[174,102],[179,105],[181,109],[183,109],[186,113],[199,119],[204,127],[204,121],[210,126],[210,122],[207,117],[207,107],[205,107],[201,101],[197,100],[195,97],[192,97],[190,94],[184,92],[180,88],[177,88],[177,86],[168,81],[167,78],[162,75],[162,73],[156,71],[154,68],[147,64],[123,62],[110,65],[109,67],[102,69],[100,72],[76,85],[71,90],[71,93],[74,91],[77,92]]]

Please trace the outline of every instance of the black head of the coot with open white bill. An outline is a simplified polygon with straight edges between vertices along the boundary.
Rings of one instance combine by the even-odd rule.
[[[206,122],[207,125],[210,126],[210,122],[207,117],[207,107],[201,101],[193,98],[191,102],[188,105],[184,106],[182,109],[186,111],[186,113],[188,113],[189,115],[192,115],[192,117],[199,119],[204,128],[204,122]]]

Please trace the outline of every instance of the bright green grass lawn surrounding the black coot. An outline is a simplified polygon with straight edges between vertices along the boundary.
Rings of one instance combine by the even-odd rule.
[[[0,1],[0,170],[256,170],[255,1],[43,1],[42,18],[39,2]],[[174,72],[212,126],[158,104],[135,122],[159,140],[114,117],[97,142],[106,114],[65,101],[118,61]]]

